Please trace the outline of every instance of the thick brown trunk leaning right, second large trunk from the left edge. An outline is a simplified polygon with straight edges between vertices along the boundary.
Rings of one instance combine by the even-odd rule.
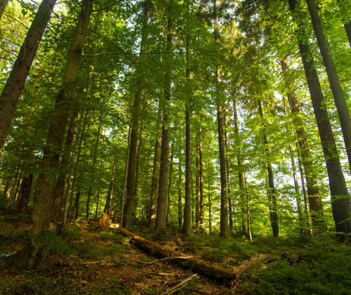
[[[32,215],[34,235],[40,232],[46,232],[50,228],[54,201],[53,189],[55,185],[55,173],[53,173],[53,171],[57,169],[59,164],[59,150],[62,145],[72,97],[74,96],[79,62],[92,9],[93,0],[83,0],[77,28],[67,58],[66,72],[50,122],[46,139],[47,145],[44,149],[44,155],[41,161],[40,167],[42,171],[45,172],[40,173],[35,186],[35,202]],[[27,265],[27,269],[32,269],[35,266],[36,263],[33,261],[31,265]]]

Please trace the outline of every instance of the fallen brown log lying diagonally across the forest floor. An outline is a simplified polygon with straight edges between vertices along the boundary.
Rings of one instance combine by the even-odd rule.
[[[235,284],[235,280],[238,278],[238,275],[230,270],[191,256],[182,257],[176,252],[161,247],[155,242],[145,240],[144,238],[133,234],[125,228],[120,227],[116,230],[120,235],[129,238],[135,245],[152,256],[157,258],[170,258],[168,259],[170,263],[178,264],[185,269],[192,270],[194,273],[215,279],[219,283],[227,283],[228,285],[233,286]]]

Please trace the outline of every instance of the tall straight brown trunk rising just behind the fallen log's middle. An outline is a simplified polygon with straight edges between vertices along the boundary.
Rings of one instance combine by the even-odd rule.
[[[172,34],[173,22],[171,16],[168,17],[167,24],[167,43],[166,52],[172,52]],[[171,101],[171,56],[168,56],[168,65],[165,71],[164,94],[166,102],[163,104],[163,120],[162,120],[162,139],[161,139],[161,157],[160,172],[158,181],[158,195],[155,230],[160,231],[166,228],[167,217],[167,180],[168,180],[168,161],[169,161],[169,102]]]

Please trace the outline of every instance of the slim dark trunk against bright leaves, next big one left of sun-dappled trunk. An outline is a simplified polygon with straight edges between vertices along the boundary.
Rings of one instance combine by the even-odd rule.
[[[258,112],[263,120],[263,111],[262,111],[262,105],[261,105],[261,100],[258,99],[257,101],[258,104]],[[263,124],[263,123],[262,123]],[[264,124],[263,124],[264,126]],[[263,144],[264,144],[264,149],[266,153],[266,163],[267,163],[267,174],[268,174],[268,202],[270,203],[270,219],[271,219],[271,225],[272,225],[272,231],[273,231],[273,237],[277,238],[279,235],[279,226],[278,226],[278,212],[277,212],[277,203],[276,203],[276,190],[274,186],[274,179],[273,179],[273,170],[272,170],[272,164],[270,161],[270,156],[269,156],[269,149],[268,149],[268,139],[266,135],[266,129],[263,127],[262,128],[263,132]]]

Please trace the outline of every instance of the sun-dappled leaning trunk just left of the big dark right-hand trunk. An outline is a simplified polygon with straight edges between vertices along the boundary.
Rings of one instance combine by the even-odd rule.
[[[289,81],[288,77],[288,65],[286,59],[281,59],[280,64],[282,67],[282,72],[285,80],[285,85],[288,90],[287,96],[290,105],[290,110],[293,115],[292,124],[296,131],[297,142],[299,145],[299,150],[301,152],[301,158],[303,166],[305,167],[306,183],[307,183],[307,193],[309,195],[310,208],[312,210],[312,221],[313,225],[320,230],[323,229],[323,206],[319,194],[319,187],[317,183],[317,174],[312,162],[311,151],[309,143],[307,140],[307,135],[305,132],[303,121],[300,117],[300,107],[299,102],[292,89],[292,82]]]

